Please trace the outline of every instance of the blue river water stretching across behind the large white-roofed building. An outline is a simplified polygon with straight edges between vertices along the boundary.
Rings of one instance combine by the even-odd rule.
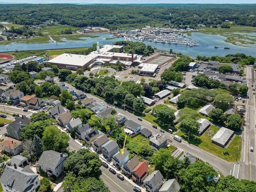
[[[0,52],[9,52],[15,51],[16,49],[19,51],[25,50],[50,50],[50,49],[64,49],[64,48],[82,48],[82,47],[91,47],[92,44],[99,42],[100,46],[105,44],[112,44],[113,42],[124,40],[124,38],[116,38],[116,39],[108,39],[112,38],[112,34],[94,34],[99,36],[97,38],[83,37],[82,39],[86,40],[67,40],[67,42],[58,42],[57,44],[49,41],[48,43],[18,43],[12,42],[9,45],[1,45]],[[160,42],[152,42],[144,40],[144,44],[151,45],[154,48],[158,48],[159,50],[170,51],[172,49],[174,52],[180,52],[184,55],[189,55],[192,58],[196,58],[196,56],[225,56],[226,54],[236,54],[236,53],[244,53],[246,55],[256,56],[256,44],[249,45],[248,47],[236,46],[231,43],[226,43],[224,40],[225,37],[216,36],[216,35],[206,35],[200,33],[192,33],[190,36],[193,39],[199,41],[199,46],[189,47],[185,45],[179,44],[168,44],[168,43],[160,43]],[[132,41],[139,41],[131,38]],[[142,42],[142,41],[140,41]],[[214,46],[220,46],[220,48],[214,48]],[[224,46],[229,46],[230,49],[224,49]]]

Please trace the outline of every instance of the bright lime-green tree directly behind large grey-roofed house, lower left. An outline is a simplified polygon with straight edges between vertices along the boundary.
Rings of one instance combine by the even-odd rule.
[[[63,134],[57,127],[48,126],[43,132],[42,142],[43,150],[54,150],[57,152],[66,152],[69,136]]]

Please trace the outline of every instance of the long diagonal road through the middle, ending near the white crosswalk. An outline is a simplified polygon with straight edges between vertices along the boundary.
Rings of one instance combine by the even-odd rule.
[[[58,78],[55,78],[54,81],[56,83],[59,82]],[[65,82],[65,84],[69,87],[72,88],[76,91],[78,91],[78,89],[76,89],[74,86],[68,84]],[[86,93],[86,96],[88,98],[93,98],[95,100],[97,100],[98,102],[103,102],[105,105],[110,105],[108,103],[106,103],[104,100],[93,96],[92,94],[88,94]],[[134,114],[129,113],[128,111],[124,111],[120,108],[115,108],[115,110],[118,113],[124,114],[127,119],[133,120],[135,122],[137,122],[138,124],[142,125],[142,128],[148,128],[153,134],[162,134],[159,129],[154,129],[152,128],[152,124],[150,122],[147,122],[145,120],[143,120],[142,122],[138,120],[138,117],[135,116]],[[224,176],[229,175],[230,173],[232,174],[233,172],[233,168],[234,168],[234,163],[232,162],[227,162],[217,156],[214,156],[194,145],[190,145],[188,144],[188,142],[182,140],[182,142],[177,142],[176,140],[173,139],[173,135],[170,133],[164,133],[166,135],[166,137],[168,138],[168,140],[170,140],[170,142],[172,143],[173,146],[181,148],[182,150],[200,158],[201,160],[203,160],[204,162],[208,162],[210,165],[212,165],[214,168],[218,169],[219,172],[221,174],[223,174]]]

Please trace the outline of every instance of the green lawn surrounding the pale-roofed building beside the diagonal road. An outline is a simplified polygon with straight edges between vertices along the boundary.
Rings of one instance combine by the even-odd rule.
[[[214,154],[226,161],[229,162],[235,162],[236,161],[236,156],[239,148],[239,153],[238,153],[238,160],[240,159],[240,151],[241,151],[241,145],[240,145],[240,136],[239,135],[234,135],[234,139],[228,146],[228,148],[222,148],[216,144],[212,143],[212,136],[219,130],[218,127],[216,126],[211,126],[208,128],[208,130],[201,136],[190,136],[189,143],[194,144],[195,146],[198,146],[199,148],[210,152],[211,154]],[[211,135],[208,135],[212,131]],[[182,137],[184,140],[188,140],[188,137],[185,133],[182,131],[179,131],[177,133],[178,136]],[[228,151],[229,155],[224,155],[223,152]]]

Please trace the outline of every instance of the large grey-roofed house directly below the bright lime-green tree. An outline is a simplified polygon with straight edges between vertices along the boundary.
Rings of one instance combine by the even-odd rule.
[[[59,153],[53,150],[44,151],[40,156],[36,170],[39,172],[40,168],[50,176],[60,176],[64,170],[64,162],[68,158],[68,154]]]

